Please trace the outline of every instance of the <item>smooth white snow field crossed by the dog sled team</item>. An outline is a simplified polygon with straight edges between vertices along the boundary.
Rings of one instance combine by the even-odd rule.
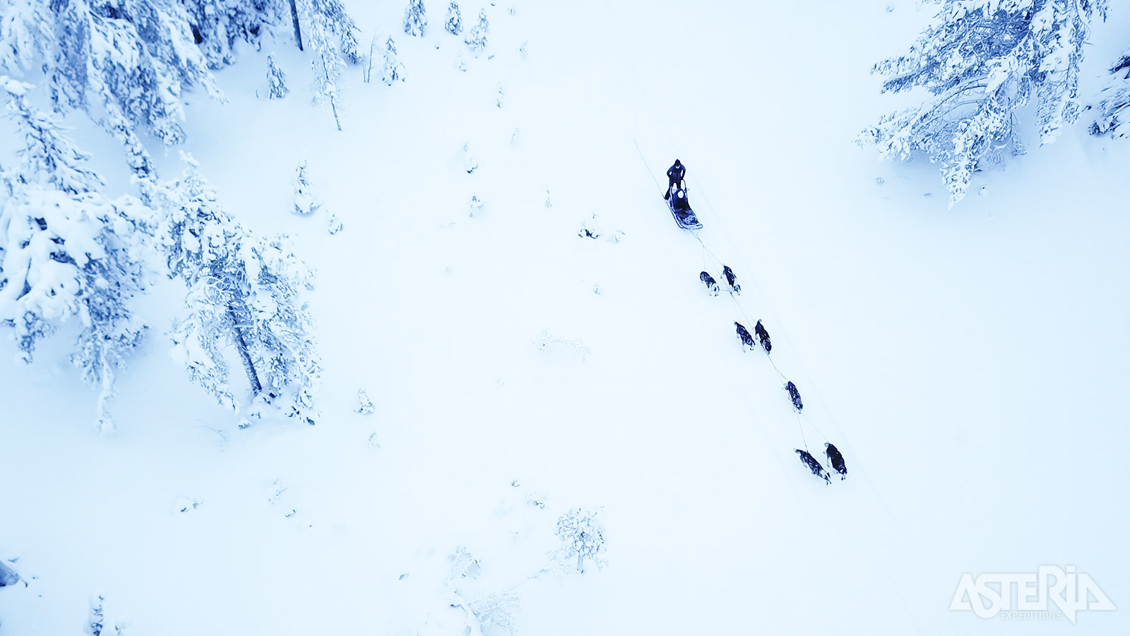
[[[0,364],[0,558],[28,581],[0,590],[0,635],[79,634],[99,592],[136,636],[458,636],[459,547],[483,570],[464,595],[521,585],[518,634],[1130,633],[1127,141],[1085,114],[947,209],[935,166],[853,144],[911,98],[868,69],[931,6],[503,0],[493,59],[427,6],[414,38],[402,2],[347,1],[366,51],[395,37],[407,81],[349,68],[341,132],[285,32],[287,98],[246,46],[217,75],[227,103],[190,98],[183,149],[221,203],[318,269],[316,426],[241,430],[190,384],[167,355],[174,284],[145,300],[110,435],[68,334]],[[1095,40],[1128,27],[1116,6]],[[1119,52],[1088,51],[1086,86]],[[68,123],[130,191],[120,146]],[[705,249],[653,180],[675,157]],[[289,212],[302,158],[312,217]],[[177,149],[160,165],[177,174]],[[740,304],[698,282],[715,258]],[[810,421],[741,351],[732,323],[757,319]],[[546,332],[575,346],[542,350]],[[845,481],[797,461],[822,433]],[[576,506],[603,508],[607,567],[529,579]],[[1040,565],[1119,609],[948,609],[964,573]]]

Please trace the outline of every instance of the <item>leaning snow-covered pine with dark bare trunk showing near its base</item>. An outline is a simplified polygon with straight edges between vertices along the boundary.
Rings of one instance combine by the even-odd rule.
[[[254,399],[313,423],[321,362],[312,319],[299,294],[313,270],[287,237],[255,237],[224,209],[185,156],[183,177],[142,183],[150,206],[165,215],[163,247],[169,277],[189,287],[186,316],[171,333],[172,355],[189,377],[225,406],[237,409],[224,351],[234,347]]]

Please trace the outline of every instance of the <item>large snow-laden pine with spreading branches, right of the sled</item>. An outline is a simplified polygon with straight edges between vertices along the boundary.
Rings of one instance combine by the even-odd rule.
[[[1106,0],[940,0],[935,24],[910,51],[875,65],[883,92],[923,87],[921,108],[883,117],[860,141],[884,158],[923,153],[941,164],[950,205],[974,171],[1023,152],[1017,112],[1035,98],[1041,144],[1079,113],[1083,44]]]

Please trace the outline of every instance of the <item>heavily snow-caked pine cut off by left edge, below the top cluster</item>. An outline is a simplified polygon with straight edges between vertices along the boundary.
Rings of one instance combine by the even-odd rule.
[[[0,76],[24,137],[19,173],[0,171],[0,324],[20,356],[71,316],[82,324],[71,361],[101,388],[98,424],[113,429],[116,371],[145,333],[131,301],[147,286],[151,213],[134,197],[108,200],[88,155],[25,97],[31,85]]]

